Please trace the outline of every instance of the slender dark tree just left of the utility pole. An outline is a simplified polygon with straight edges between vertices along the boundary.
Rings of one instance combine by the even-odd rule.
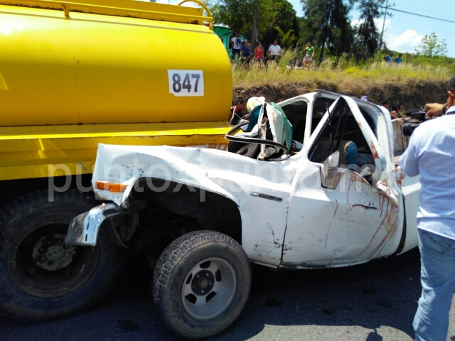
[[[360,11],[360,25],[358,26],[355,44],[355,63],[360,59],[374,57],[378,48],[379,32],[375,26],[375,19],[380,17],[380,6],[385,0],[360,1],[357,9]]]

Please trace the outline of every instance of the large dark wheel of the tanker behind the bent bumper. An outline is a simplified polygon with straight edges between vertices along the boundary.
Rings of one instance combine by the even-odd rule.
[[[65,244],[71,220],[96,206],[77,190],[28,193],[0,211],[0,310],[41,322],[87,310],[114,286],[124,251],[102,226],[96,247]]]

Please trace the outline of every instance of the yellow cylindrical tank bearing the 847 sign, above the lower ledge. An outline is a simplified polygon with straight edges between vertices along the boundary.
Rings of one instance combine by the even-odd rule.
[[[76,1],[0,0],[0,126],[227,119],[230,61],[202,9]]]

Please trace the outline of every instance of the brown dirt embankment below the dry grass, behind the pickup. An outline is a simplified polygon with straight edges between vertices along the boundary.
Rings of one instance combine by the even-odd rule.
[[[350,89],[340,89],[337,84],[331,82],[300,82],[289,85],[266,85],[263,87],[250,87],[242,89],[234,87],[232,97],[248,99],[253,96],[264,96],[267,102],[281,102],[299,94],[313,92],[316,89],[328,90],[340,94],[359,97],[366,94],[370,102],[380,104],[382,99],[388,99],[390,104],[402,104],[402,112],[412,109],[420,109],[425,103],[444,103],[446,101],[446,82],[428,82],[425,80],[409,81],[402,85],[390,83],[381,87],[358,86]]]

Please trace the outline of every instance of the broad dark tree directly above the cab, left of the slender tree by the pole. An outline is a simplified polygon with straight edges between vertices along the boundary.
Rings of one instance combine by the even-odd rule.
[[[314,45],[321,46],[319,64],[327,47],[340,58],[348,52],[352,39],[348,13],[349,3],[343,0],[301,0],[306,16],[306,25],[314,38]]]

